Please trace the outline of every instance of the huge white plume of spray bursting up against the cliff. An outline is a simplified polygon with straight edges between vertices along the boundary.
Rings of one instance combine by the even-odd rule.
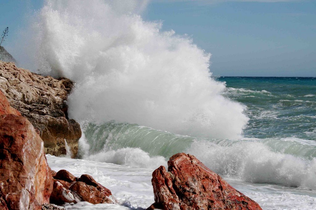
[[[235,139],[248,118],[210,78],[210,54],[142,20],[146,1],[47,1],[32,31],[37,68],[76,82],[70,117]]]

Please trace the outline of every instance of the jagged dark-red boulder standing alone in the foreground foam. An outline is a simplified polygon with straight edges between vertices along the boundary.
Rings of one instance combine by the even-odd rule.
[[[195,156],[178,153],[153,172],[155,203],[148,209],[261,209]]]

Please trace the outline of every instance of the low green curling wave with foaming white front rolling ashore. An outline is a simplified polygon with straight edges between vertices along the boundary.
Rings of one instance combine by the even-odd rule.
[[[179,152],[195,155],[225,179],[316,190],[316,143],[289,138],[208,139],[129,123],[86,125],[84,159],[157,168]]]

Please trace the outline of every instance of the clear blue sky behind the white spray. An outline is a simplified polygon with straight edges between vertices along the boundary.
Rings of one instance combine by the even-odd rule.
[[[10,52],[27,14],[42,1],[1,1],[0,30]],[[144,20],[187,34],[212,54],[215,76],[316,77],[316,1],[152,0]],[[14,55],[14,54],[13,54]]]

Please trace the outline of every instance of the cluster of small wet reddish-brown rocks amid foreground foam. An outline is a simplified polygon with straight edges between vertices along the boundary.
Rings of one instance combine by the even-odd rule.
[[[103,187],[88,174],[83,174],[77,179],[68,171],[60,170],[53,178],[51,203],[60,205],[79,201],[87,201],[92,204],[117,202],[109,189]]]

